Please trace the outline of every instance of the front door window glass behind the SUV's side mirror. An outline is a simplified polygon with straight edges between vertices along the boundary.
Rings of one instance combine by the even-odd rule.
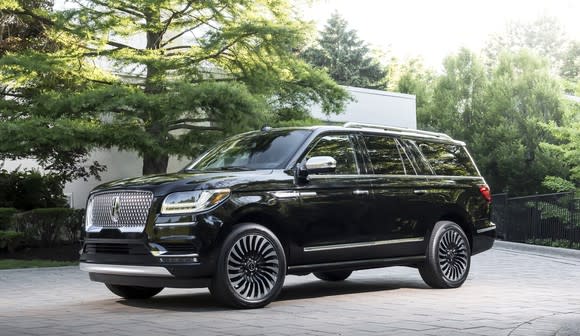
[[[306,158],[313,156],[331,156],[336,160],[336,171],[331,174],[358,174],[354,146],[348,135],[326,135],[316,144]]]

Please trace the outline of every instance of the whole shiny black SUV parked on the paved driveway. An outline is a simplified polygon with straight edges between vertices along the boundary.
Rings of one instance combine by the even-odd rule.
[[[93,190],[80,267],[124,298],[209,287],[242,308],[274,300],[286,274],[341,281],[404,265],[453,288],[493,245],[490,205],[465,144],[445,134],[264,128],[178,173]]]

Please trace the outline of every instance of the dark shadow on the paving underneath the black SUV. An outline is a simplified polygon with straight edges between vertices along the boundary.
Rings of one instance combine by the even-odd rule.
[[[341,282],[326,282],[313,280],[294,284],[286,284],[276,299],[276,303],[290,303],[294,300],[314,299],[340,295],[383,292],[397,289],[427,289],[421,281],[369,281],[369,280],[346,280]],[[192,294],[169,294],[155,296],[147,300],[119,300],[118,303],[141,309],[156,309],[178,312],[216,312],[229,311],[232,308],[225,307],[216,301],[209,292],[197,292]]]

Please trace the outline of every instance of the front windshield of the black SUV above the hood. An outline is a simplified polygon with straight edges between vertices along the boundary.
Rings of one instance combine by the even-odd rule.
[[[310,130],[274,130],[230,138],[194,161],[185,170],[281,169]]]

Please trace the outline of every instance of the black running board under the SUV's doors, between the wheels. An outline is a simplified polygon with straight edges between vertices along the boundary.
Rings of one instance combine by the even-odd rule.
[[[322,264],[295,265],[288,266],[288,274],[300,275],[305,273],[323,272],[323,271],[338,271],[338,270],[355,271],[361,269],[380,268],[386,266],[409,266],[421,263],[423,261],[425,261],[424,255],[413,257],[365,259],[365,260],[339,261]]]

